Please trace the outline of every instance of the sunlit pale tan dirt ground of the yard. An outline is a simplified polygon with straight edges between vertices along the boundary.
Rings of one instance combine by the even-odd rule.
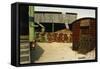
[[[86,55],[78,54],[76,51],[72,50],[72,43],[53,42],[38,43],[38,45],[44,50],[44,52],[40,58],[35,61],[35,63],[95,59],[95,50],[87,53]]]

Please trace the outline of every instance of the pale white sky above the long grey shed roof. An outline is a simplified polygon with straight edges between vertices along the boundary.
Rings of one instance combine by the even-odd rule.
[[[57,7],[43,7],[43,6],[35,6],[35,11],[54,11],[54,12],[62,12],[62,13],[77,13],[77,19],[83,17],[93,17],[95,18],[95,10],[93,9],[76,9],[76,8],[57,8]]]

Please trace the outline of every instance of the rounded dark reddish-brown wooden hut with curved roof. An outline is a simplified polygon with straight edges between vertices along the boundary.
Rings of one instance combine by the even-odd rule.
[[[87,53],[96,46],[96,20],[81,18],[72,23],[73,50]]]

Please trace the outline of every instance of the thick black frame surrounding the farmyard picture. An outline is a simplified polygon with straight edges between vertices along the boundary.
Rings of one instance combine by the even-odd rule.
[[[20,6],[45,6],[45,7],[59,7],[59,8],[76,8],[76,9],[93,9],[95,10],[96,19],[96,48],[94,60],[79,60],[79,61],[59,61],[59,62],[45,62],[45,63],[29,63],[20,64]],[[20,66],[34,66],[34,65],[51,65],[51,64],[67,64],[67,63],[84,63],[84,62],[97,62],[98,48],[97,48],[97,27],[98,27],[98,8],[90,6],[74,6],[74,5],[58,5],[58,4],[41,4],[41,3],[24,3],[15,2],[11,4],[11,65]],[[26,14],[27,15],[27,14]]]

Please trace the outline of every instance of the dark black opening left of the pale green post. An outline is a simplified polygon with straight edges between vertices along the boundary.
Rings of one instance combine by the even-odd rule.
[[[28,17],[28,6],[19,6],[19,25],[20,25],[20,35],[29,35],[29,17]]]

